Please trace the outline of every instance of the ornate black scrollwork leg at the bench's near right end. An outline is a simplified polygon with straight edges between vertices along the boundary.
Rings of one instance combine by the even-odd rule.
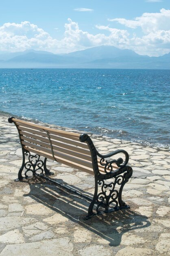
[[[131,177],[132,172],[132,168],[128,166],[125,173],[113,177],[114,181],[110,183],[106,182],[106,180],[98,179],[98,177],[95,176],[94,197],[89,205],[88,215],[86,216],[87,219],[91,218],[93,215],[130,208],[122,201],[122,190]],[[99,189],[100,192],[98,193]],[[96,213],[93,212],[94,204],[97,205]],[[114,204],[112,208],[111,204]],[[102,211],[100,211],[99,208],[102,208]]]

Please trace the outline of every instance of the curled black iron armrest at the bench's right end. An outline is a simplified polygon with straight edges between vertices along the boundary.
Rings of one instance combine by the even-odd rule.
[[[129,154],[123,149],[115,150],[107,155],[102,155],[97,150],[96,150],[96,153],[101,158],[100,164],[102,166],[105,166],[105,168],[108,169],[109,171],[110,171],[110,169],[112,169],[111,164],[115,163],[119,168],[122,168],[122,167],[126,166],[129,161]],[[125,161],[123,161],[123,159],[121,157],[119,157],[117,160],[116,159],[105,160],[105,158],[112,157],[113,155],[117,155],[119,153],[123,153],[125,155]]]

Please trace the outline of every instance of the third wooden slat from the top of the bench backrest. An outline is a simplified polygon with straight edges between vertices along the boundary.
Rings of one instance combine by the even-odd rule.
[[[44,142],[49,144],[49,139],[48,138],[44,138],[44,137],[41,137],[41,136],[38,136],[38,135],[35,135],[35,134],[30,134],[30,133],[24,132],[24,131],[20,131],[20,135],[31,137],[31,138],[37,139],[39,141],[44,141]],[[75,151],[75,152],[78,152],[78,153],[82,153],[84,155],[88,155],[88,156],[91,157],[91,153],[90,153],[89,149],[80,148],[80,147],[77,147],[77,146],[74,146],[74,145],[72,146],[72,145],[69,145],[69,144],[63,144],[59,141],[54,141],[54,140],[51,140],[51,141],[52,141],[53,145],[59,146],[61,148],[66,148],[66,149],[68,148],[69,150],[72,150],[72,151]]]

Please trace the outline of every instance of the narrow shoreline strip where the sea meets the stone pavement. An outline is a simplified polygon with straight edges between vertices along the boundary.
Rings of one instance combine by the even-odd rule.
[[[4,112],[2,110],[0,110],[0,117],[2,116],[7,116],[7,119],[9,117],[11,117],[12,115],[9,113],[9,112]],[[132,144],[139,144],[141,145],[142,147],[153,147],[153,148],[157,148],[158,150],[170,150],[170,144],[159,144],[159,143],[151,143],[151,142],[144,142],[144,141],[133,141],[132,140],[129,140],[129,139],[121,139],[121,138],[118,138],[118,137],[111,137],[111,136],[108,136],[108,135],[104,135],[104,134],[95,134],[93,132],[90,132],[88,130],[78,130],[76,128],[72,128],[72,127],[64,127],[64,126],[58,126],[57,124],[49,124],[49,123],[46,123],[46,122],[43,122],[39,119],[33,119],[33,118],[28,118],[28,117],[20,117],[20,116],[17,116],[15,115],[15,118],[19,118],[19,119],[22,119],[24,121],[28,121],[28,122],[33,122],[35,124],[41,124],[42,126],[48,126],[48,127],[51,127],[51,128],[56,128],[56,129],[61,129],[61,130],[68,130],[68,131],[74,131],[74,132],[77,132],[77,133],[87,133],[88,135],[91,135],[92,137],[96,137],[96,138],[103,138],[103,139],[116,139],[116,140],[119,140],[119,141],[129,141],[130,143]]]

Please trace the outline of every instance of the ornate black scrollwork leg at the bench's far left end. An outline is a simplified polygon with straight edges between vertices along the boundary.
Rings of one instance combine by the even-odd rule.
[[[27,162],[26,162],[26,157],[28,157]],[[31,155],[29,151],[24,150],[22,148],[22,166],[18,172],[18,178],[16,179],[16,181],[31,177],[30,175],[28,175],[28,172],[31,172],[33,176],[36,174],[37,171],[41,172],[41,174],[45,173],[46,175],[53,174],[46,167],[47,159],[44,158],[44,161],[43,161],[39,158],[40,158],[39,155]],[[25,177],[22,176],[23,170],[25,170],[24,172]]]

